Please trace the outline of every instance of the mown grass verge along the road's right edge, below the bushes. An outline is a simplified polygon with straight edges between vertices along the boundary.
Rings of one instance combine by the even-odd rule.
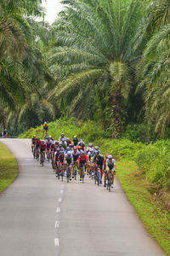
[[[156,199],[156,194],[150,193],[150,186],[133,161],[121,160],[117,164],[116,177],[128,200],[139,214],[145,228],[153,236],[161,248],[170,256],[170,216]]]

